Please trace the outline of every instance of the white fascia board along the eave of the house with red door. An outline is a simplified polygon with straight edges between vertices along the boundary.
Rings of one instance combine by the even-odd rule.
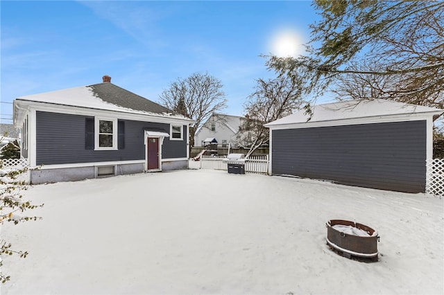
[[[48,111],[52,113],[61,113],[61,114],[73,114],[73,115],[81,115],[81,116],[108,116],[115,117],[119,119],[126,120],[139,120],[145,122],[155,122],[155,123],[178,123],[182,125],[189,125],[193,123],[194,120],[187,118],[176,118],[173,116],[162,116],[160,114],[141,114],[141,113],[132,113],[130,111],[112,111],[105,109],[92,109],[88,107],[73,107],[68,105],[56,105],[49,102],[36,102],[31,100],[19,100],[16,99],[20,105],[32,107],[37,111]]]

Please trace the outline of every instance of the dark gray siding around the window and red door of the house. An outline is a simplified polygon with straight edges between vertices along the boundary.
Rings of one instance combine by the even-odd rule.
[[[37,165],[144,160],[144,129],[162,129],[169,133],[169,124],[124,120],[124,149],[86,150],[85,118],[87,117],[37,111]],[[186,126],[184,130],[187,130]],[[169,141],[165,138],[162,148],[164,159],[187,157],[186,139]]]

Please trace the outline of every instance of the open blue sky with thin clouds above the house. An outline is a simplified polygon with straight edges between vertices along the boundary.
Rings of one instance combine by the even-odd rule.
[[[240,116],[255,79],[273,76],[259,55],[276,53],[283,30],[306,42],[319,19],[310,1],[0,1],[0,10],[1,123],[12,123],[4,102],[105,74],[158,101],[178,78],[209,73],[224,85],[223,112]]]

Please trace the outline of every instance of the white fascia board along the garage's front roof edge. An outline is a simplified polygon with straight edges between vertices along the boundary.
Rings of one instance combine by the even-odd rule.
[[[264,125],[271,130],[278,129],[300,129],[300,128],[314,128],[314,127],[328,127],[328,126],[343,126],[343,125],[359,125],[359,124],[372,124],[372,123],[391,123],[391,122],[402,122],[402,121],[413,121],[413,120],[427,120],[432,118],[434,115],[441,114],[441,111],[433,111],[429,113],[418,113],[418,114],[398,114],[391,116],[373,116],[364,118],[353,118],[353,119],[341,119],[341,120],[325,120],[316,122],[305,122],[305,123],[287,123],[280,125]]]

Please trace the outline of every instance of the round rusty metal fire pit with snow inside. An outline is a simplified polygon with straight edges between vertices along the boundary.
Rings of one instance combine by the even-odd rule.
[[[347,258],[368,258],[377,261],[377,231],[364,224],[348,220],[329,220],[327,244]]]

